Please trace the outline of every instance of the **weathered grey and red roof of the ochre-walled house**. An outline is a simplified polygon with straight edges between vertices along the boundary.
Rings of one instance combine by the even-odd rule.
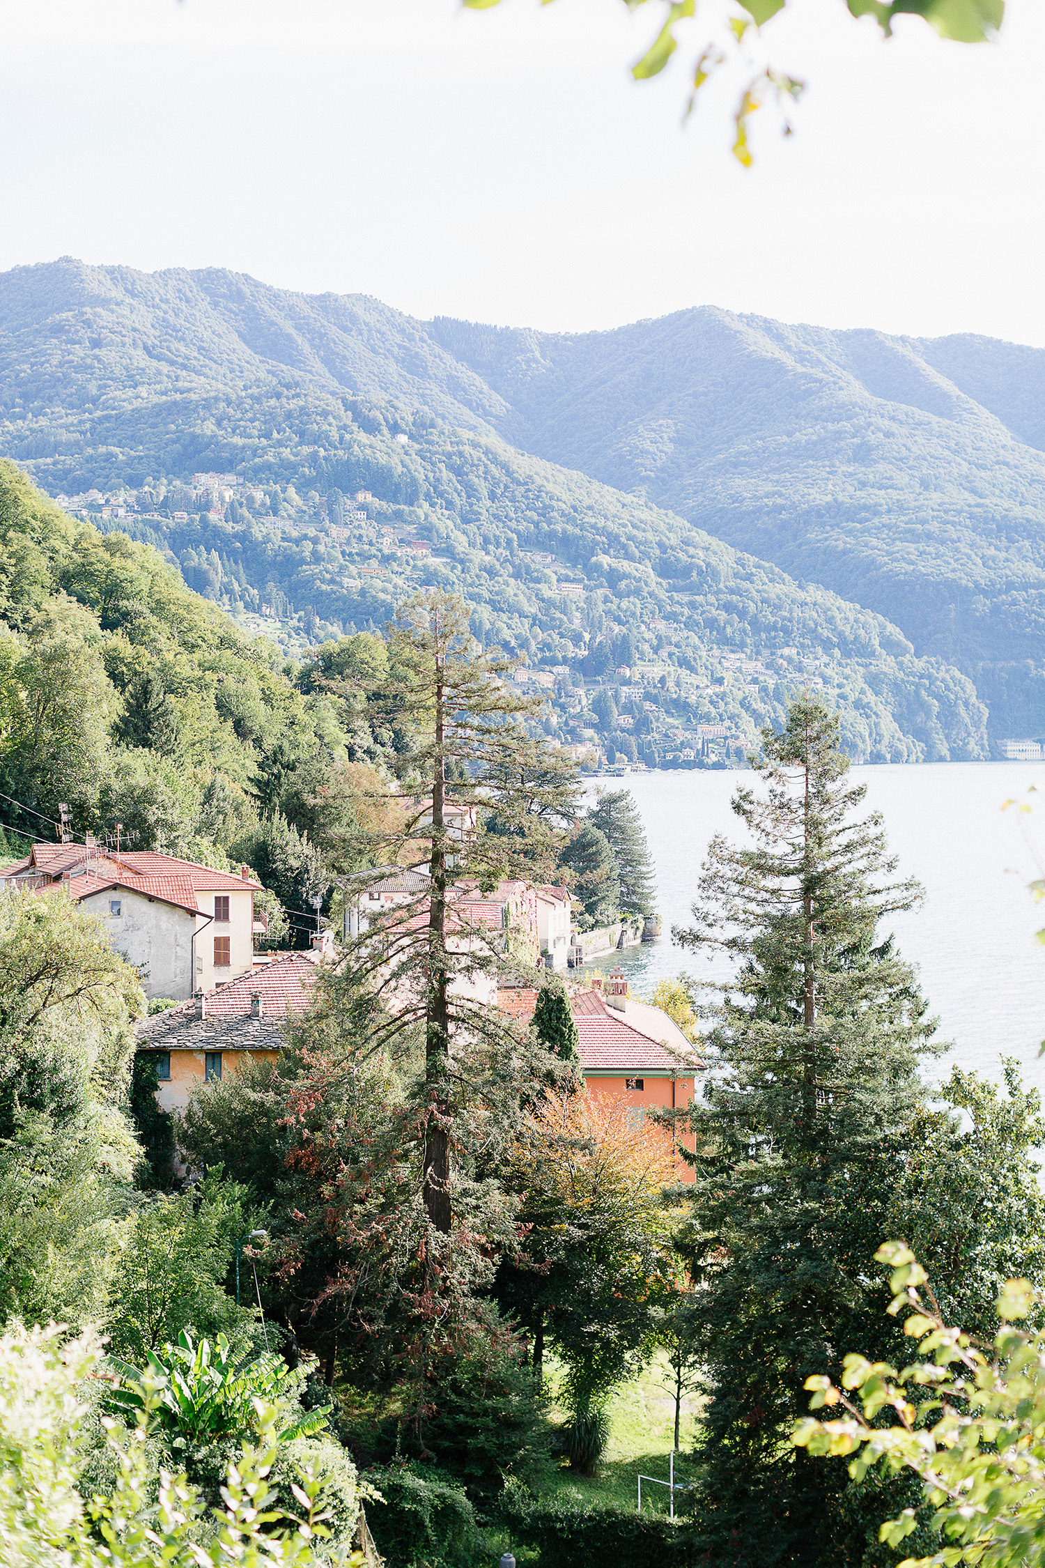
[[[301,953],[280,958],[208,991],[204,1018],[196,1016],[194,997],[143,1018],[138,1041],[146,1051],[279,1051],[288,1016],[309,1005],[316,972]],[[254,994],[262,997],[260,1018],[251,1018]]]

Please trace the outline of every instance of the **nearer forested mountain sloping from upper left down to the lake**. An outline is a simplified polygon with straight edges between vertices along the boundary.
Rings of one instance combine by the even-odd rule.
[[[409,583],[421,582],[414,569],[406,574],[403,554],[381,549],[385,527],[429,544],[423,582],[465,591],[484,643],[584,679],[636,660],[696,676],[700,701],[669,713],[686,732],[682,750],[699,750],[700,724],[725,726],[743,746],[760,724],[780,723],[799,670],[780,670],[779,655],[793,649],[797,660],[823,662],[816,677],[843,715],[854,760],[989,754],[995,721],[976,696],[976,671],[960,673],[948,655],[920,657],[895,624],[818,586],[812,572],[796,582],[639,494],[506,447],[475,419],[472,428],[443,422],[407,401],[410,389],[395,378],[382,381],[395,397],[346,392],[306,353],[316,331],[307,312],[291,364],[273,358],[274,329],[265,337],[268,358],[240,339],[233,351],[221,312],[232,310],[249,337],[243,312],[257,320],[262,285],[207,274],[193,298],[188,274],[177,285],[157,278],[139,289],[139,281],[78,263],[5,274],[0,442],[52,495],[133,492],[128,519],[103,522],[102,503],[88,505],[100,525],[166,550],[191,586],[246,616],[252,632],[262,630],[262,608],[269,632],[290,630],[293,652],[379,630]],[[356,342],[349,329],[368,323],[371,364],[395,312],[371,301],[346,320],[335,303],[326,309],[334,317],[326,331],[337,329],[345,356]],[[290,353],[290,339],[276,336],[280,353]],[[365,379],[362,364],[359,376],[349,375],[351,356],[337,361],[335,345],[324,343],[324,364],[345,379]],[[429,403],[453,414],[445,398]],[[218,516],[193,511],[199,470],[235,474],[252,500],[222,505]],[[360,491],[371,497],[368,527],[332,536]],[[616,644],[630,640],[633,651],[617,657]],[[597,670],[600,641],[613,663],[605,659],[609,668]],[[724,682],[721,652],[771,660],[783,679]],[[1011,682],[1023,679],[1021,665],[1006,668]],[[620,695],[611,695],[620,712]],[[575,728],[581,732],[567,734],[561,723],[561,739],[583,742],[589,729],[605,746],[605,726],[591,717]],[[649,748],[628,742],[624,754],[635,745],[650,765],[669,750],[663,735]]]

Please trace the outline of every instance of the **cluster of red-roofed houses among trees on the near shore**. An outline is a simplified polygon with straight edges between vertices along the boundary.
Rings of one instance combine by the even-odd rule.
[[[475,833],[475,815],[470,815]],[[34,844],[3,869],[0,887],[39,897],[67,897],[92,914],[113,949],[130,963],[150,1000],[138,1027],[139,1051],[157,1071],[161,1112],[182,1112],[197,1082],[221,1079],[244,1062],[276,1063],[287,1029],[309,1007],[323,966],[337,967],[334,933],[316,930],[307,952],[257,950],[265,920],[255,917],[260,884],[244,866],[229,875],[171,855],[86,844]],[[428,916],[429,878],[421,869],[385,867],[351,880],[345,889],[340,939],[384,944]],[[457,884],[453,947],[465,953],[492,946],[497,964],[457,975],[451,989],[495,1007],[523,1029],[533,1018],[533,977],[583,963],[584,950],[611,953],[641,941],[653,922],[617,920],[586,931],[572,920],[566,886],[506,881],[479,891]],[[595,969],[570,986],[578,1027],[580,1066],[589,1093],[627,1105],[641,1124],[647,1109],[683,1112],[702,1068],[692,1041],[661,1008],[628,993],[619,971]],[[157,1010],[158,1008],[158,1010]],[[691,1179],[688,1167],[678,1179]]]

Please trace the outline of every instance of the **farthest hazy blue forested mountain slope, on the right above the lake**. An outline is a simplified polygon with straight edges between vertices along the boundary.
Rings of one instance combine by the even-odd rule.
[[[973,676],[995,732],[1045,728],[1045,351],[714,309],[431,331],[517,444],[887,615]]]

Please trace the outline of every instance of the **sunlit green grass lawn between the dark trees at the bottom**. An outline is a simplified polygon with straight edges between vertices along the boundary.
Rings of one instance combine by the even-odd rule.
[[[553,1361],[548,1367],[548,1388],[553,1396],[551,1416],[555,1421],[564,1421],[566,1411],[555,1405],[556,1367]],[[669,1389],[667,1355],[658,1352],[642,1375],[619,1389],[609,1403],[609,1446],[598,1468],[598,1475],[589,1480],[562,1468],[555,1471],[550,1491],[553,1494],[570,1493],[588,1502],[616,1502],[635,1508],[639,1471],[666,1482],[667,1455],[675,1425],[675,1405]],[[683,1396],[678,1435],[682,1454],[675,1455],[675,1471],[680,1480],[689,1480],[692,1472],[688,1455],[692,1449],[697,1413],[699,1400],[694,1396]],[[667,1486],[652,1486],[642,1482],[642,1513],[667,1513]]]

